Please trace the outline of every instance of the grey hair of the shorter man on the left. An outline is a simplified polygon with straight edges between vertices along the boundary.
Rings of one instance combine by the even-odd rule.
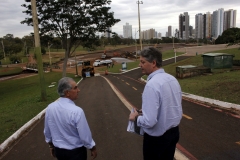
[[[72,78],[63,77],[58,81],[58,94],[60,97],[65,96],[65,91],[72,89],[72,85],[70,84],[71,81],[74,81]]]

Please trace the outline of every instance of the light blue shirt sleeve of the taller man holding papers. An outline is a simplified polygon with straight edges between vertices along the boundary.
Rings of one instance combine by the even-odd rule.
[[[158,122],[160,95],[152,87],[145,86],[142,95],[143,116],[138,117],[137,125],[152,128]]]

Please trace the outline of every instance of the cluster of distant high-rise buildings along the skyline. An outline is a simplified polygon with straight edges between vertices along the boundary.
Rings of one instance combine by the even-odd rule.
[[[195,29],[190,25],[190,17],[188,12],[184,12],[179,15],[178,22],[179,28],[173,31],[172,26],[168,26],[166,37],[176,37],[179,39],[187,40],[189,38],[194,39],[216,39],[223,31],[228,28],[236,27],[237,10],[229,9],[224,11],[220,8],[213,13],[206,12],[205,14],[198,13],[195,15]],[[136,31],[135,31],[136,32]],[[149,40],[152,38],[162,38],[162,34],[151,28],[141,31],[141,37],[143,40]],[[136,33],[132,34],[132,25],[126,23],[123,25],[123,38],[136,38]]]

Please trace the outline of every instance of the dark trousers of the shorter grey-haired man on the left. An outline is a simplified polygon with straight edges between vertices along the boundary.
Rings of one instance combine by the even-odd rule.
[[[58,160],[87,160],[87,149],[80,147],[67,150],[55,147],[55,155]]]

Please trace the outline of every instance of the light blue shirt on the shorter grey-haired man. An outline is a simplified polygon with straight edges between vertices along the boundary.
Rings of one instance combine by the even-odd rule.
[[[55,147],[75,149],[95,146],[83,110],[68,98],[59,98],[48,105],[45,114],[44,135],[46,142]]]

